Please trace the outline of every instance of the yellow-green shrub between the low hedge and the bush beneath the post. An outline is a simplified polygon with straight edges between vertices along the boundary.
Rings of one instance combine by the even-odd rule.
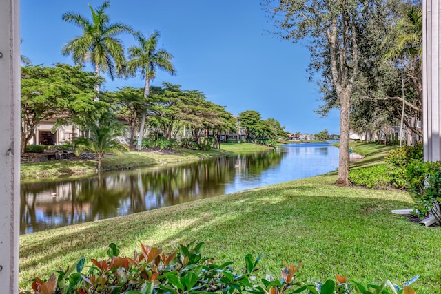
[[[422,144],[404,146],[389,151],[385,158],[391,184],[397,188],[404,188],[409,182],[406,176],[406,166],[413,160],[422,160]]]

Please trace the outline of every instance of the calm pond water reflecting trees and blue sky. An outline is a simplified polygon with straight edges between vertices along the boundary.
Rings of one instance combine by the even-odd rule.
[[[338,148],[289,144],[182,165],[21,184],[20,233],[32,233],[325,174]]]

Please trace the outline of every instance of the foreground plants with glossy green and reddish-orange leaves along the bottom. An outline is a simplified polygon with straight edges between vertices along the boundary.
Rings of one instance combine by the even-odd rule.
[[[242,293],[283,294],[350,294],[350,293],[415,293],[409,286],[417,277],[409,280],[402,288],[389,280],[380,285],[363,286],[357,282],[350,284],[348,277],[336,275],[336,281],[306,284],[298,280],[297,272],[302,263],[294,266],[283,262],[281,279],[271,275],[257,282],[254,272],[262,255],[256,260],[245,256],[245,269],[234,271],[232,262],[215,264],[200,253],[203,243],[192,242],[187,246],[174,245],[175,253],[165,254],[160,247],[150,247],[141,243],[141,253],[134,252],[133,258],[122,258],[115,244],[110,244],[107,260],[92,259],[92,266],[83,273],[85,258],[81,258],[68,269],[59,269],[48,280],[38,277],[32,283],[36,294],[67,293],[126,293],[126,294],[208,294]],[[22,293],[30,293],[23,291]]]

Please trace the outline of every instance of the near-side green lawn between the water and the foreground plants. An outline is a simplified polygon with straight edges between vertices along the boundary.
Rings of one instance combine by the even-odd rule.
[[[369,156],[364,160],[372,164]],[[305,261],[300,274],[309,282],[338,273],[363,284],[389,277],[401,285],[421,275],[413,284],[417,293],[441,293],[441,228],[391,214],[412,206],[408,193],[337,187],[336,179],[305,178],[22,235],[20,286],[30,288],[30,279],[48,278],[82,256],[105,258],[111,242],[121,255],[132,256],[140,241],[168,251],[172,241],[199,240],[205,255],[220,263],[232,260],[236,269],[243,267],[245,254],[263,253],[258,271],[263,277],[279,277],[283,260]]]

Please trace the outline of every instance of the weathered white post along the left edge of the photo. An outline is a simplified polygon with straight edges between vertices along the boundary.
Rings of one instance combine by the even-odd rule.
[[[0,1],[0,285],[19,293],[19,0]]]

